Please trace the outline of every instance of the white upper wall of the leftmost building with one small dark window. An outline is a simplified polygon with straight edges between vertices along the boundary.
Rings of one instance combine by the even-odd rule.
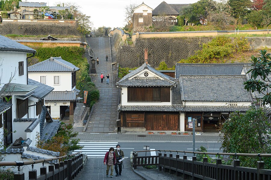
[[[19,76],[19,62],[23,61],[24,73]],[[6,51],[0,52],[0,72],[1,72],[1,87],[2,84],[9,82],[11,76],[14,78],[11,80],[12,83],[26,84],[27,82],[27,70],[26,70],[26,53]]]

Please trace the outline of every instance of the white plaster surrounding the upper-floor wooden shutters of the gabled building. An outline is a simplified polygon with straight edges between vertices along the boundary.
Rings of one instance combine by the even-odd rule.
[[[127,102],[128,101],[128,87],[121,88],[121,105],[171,105],[172,92],[170,90],[170,102]]]

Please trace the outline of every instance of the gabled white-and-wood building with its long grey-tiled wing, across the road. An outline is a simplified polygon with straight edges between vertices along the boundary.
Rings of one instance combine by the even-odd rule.
[[[244,64],[177,63],[176,78],[171,78],[145,63],[116,83],[121,88],[119,127],[192,131],[195,119],[196,131],[218,132],[231,112],[250,108],[252,96],[244,89],[243,68]],[[174,82],[167,84],[170,93],[162,93],[165,81]],[[167,96],[169,101],[162,100]]]

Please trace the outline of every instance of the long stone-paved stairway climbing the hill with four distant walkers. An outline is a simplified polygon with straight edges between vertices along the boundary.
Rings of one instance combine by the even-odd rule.
[[[111,49],[110,39],[107,38],[87,38],[87,42],[94,52],[94,59],[99,57],[99,66],[95,64],[97,74],[90,74],[93,83],[100,92],[100,98],[95,103],[92,116],[89,119],[86,132],[114,132],[117,120],[118,89],[112,81]],[[108,63],[105,56],[108,56]],[[100,75],[109,74],[110,81],[106,84],[106,78],[101,83]],[[82,131],[79,131],[82,132]]]

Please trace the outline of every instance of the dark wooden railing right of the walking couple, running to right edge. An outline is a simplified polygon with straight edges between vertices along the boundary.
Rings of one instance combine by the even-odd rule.
[[[157,165],[159,171],[183,176],[183,179],[208,179],[208,180],[270,180],[271,170],[263,169],[264,162],[261,157],[271,157],[271,154],[243,154],[243,153],[208,153],[208,152],[192,152],[192,151],[175,151],[175,150],[153,150],[159,151],[158,156],[138,156],[139,152],[133,152],[133,167]],[[162,155],[161,151],[164,151]],[[167,156],[166,152],[170,152]],[[241,167],[240,160],[236,159],[233,166],[223,165],[220,158],[216,159],[216,164],[208,163],[207,157],[203,158],[203,162],[197,161],[193,156],[192,160],[188,160],[186,155],[180,158],[179,154],[173,157],[171,152],[192,153],[192,154],[209,154],[209,155],[226,155],[226,156],[246,156],[259,157],[257,168]]]

